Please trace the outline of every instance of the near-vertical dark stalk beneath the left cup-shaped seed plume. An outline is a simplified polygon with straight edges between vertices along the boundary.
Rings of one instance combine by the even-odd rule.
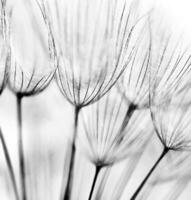
[[[27,200],[26,195],[26,172],[25,172],[25,158],[23,148],[22,135],[22,96],[17,94],[17,120],[18,120],[18,145],[19,145],[19,166],[20,166],[20,180],[21,180],[21,199]]]

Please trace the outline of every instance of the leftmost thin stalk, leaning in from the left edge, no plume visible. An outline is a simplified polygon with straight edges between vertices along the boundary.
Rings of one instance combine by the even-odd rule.
[[[15,193],[15,199],[19,200],[19,193],[18,193],[18,189],[17,189],[17,183],[16,183],[16,178],[15,178],[15,173],[14,173],[14,170],[13,170],[13,165],[12,165],[11,158],[10,158],[10,155],[9,155],[9,151],[7,149],[7,145],[6,145],[6,142],[5,142],[5,139],[4,139],[4,136],[3,136],[1,129],[0,129],[0,140],[1,140],[2,147],[3,147],[5,160],[6,160],[6,163],[7,163],[11,182],[13,184],[13,191]]]

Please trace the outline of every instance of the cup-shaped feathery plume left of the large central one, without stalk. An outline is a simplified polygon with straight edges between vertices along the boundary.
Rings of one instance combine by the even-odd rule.
[[[18,3],[11,23],[9,88],[23,96],[31,96],[43,91],[49,85],[56,70],[55,62],[51,57],[48,31],[43,20],[39,20],[41,23],[35,21],[38,15],[34,15],[33,18],[33,9],[34,7],[32,12],[27,12],[26,5]],[[25,16],[25,23],[22,23],[23,18],[19,18],[21,15],[18,15],[18,12],[22,12]],[[35,29],[36,26],[39,30]]]

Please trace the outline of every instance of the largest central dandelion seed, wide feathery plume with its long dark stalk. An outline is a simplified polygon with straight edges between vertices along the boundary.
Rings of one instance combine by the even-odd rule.
[[[137,14],[138,1],[130,6],[126,0],[57,4],[56,17],[49,23],[56,44],[56,78],[62,94],[75,107],[71,162],[63,192],[63,199],[69,199],[79,112],[104,96],[124,72],[137,45],[143,17]]]

